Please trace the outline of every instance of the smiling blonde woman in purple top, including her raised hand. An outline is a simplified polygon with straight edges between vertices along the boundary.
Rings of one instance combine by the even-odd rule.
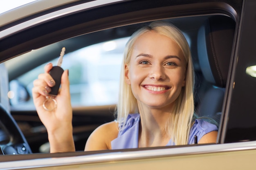
[[[54,111],[42,103],[54,86],[45,73],[34,81],[33,99],[48,132],[51,153],[74,151],[68,71],[63,73]],[[215,143],[217,127],[193,120],[193,65],[184,35],[165,22],[136,31],[124,52],[117,120],[99,126],[85,150]]]

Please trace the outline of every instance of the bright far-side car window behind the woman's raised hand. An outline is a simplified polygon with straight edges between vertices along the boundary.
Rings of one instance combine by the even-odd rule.
[[[64,55],[62,68],[69,70],[73,106],[117,103],[122,55],[128,38],[101,42]],[[57,60],[49,62],[56,65]],[[43,73],[46,64],[10,81],[8,96],[12,107],[34,106],[31,96],[33,81]]]

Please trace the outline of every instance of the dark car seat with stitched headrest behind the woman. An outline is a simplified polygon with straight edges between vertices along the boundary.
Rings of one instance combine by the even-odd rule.
[[[230,17],[209,17],[198,31],[198,60],[204,81],[196,112],[220,121],[236,23]],[[207,89],[202,88],[208,84]],[[202,92],[203,91],[203,92]]]

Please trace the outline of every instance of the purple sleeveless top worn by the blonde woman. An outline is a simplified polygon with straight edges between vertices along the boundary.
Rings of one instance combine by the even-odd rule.
[[[139,121],[140,121],[139,113],[129,114],[123,129],[119,131],[117,138],[111,141],[111,148],[112,149],[138,148]],[[189,144],[195,143],[194,142],[195,135],[197,135],[198,141],[199,141],[203,135],[211,131],[218,131],[217,126],[203,119],[196,119],[189,133]],[[175,145],[175,144],[170,139],[170,141],[166,146],[171,146],[171,145]]]

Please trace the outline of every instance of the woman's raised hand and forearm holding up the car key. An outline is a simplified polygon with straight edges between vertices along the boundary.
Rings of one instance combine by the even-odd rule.
[[[33,101],[36,111],[42,123],[45,125],[50,143],[50,152],[71,152],[75,151],[72,134],[72,106],[70,101],[70,84],[68,70],[65,70],[61,77],[61,89],[55,97],[57,107],[53,111],[46,111],[43,102],[49,95],[51,87],[55,82],[49,75],[52,63],[45,66],[45,73],[40,74],[34,81],[32,89]]]

